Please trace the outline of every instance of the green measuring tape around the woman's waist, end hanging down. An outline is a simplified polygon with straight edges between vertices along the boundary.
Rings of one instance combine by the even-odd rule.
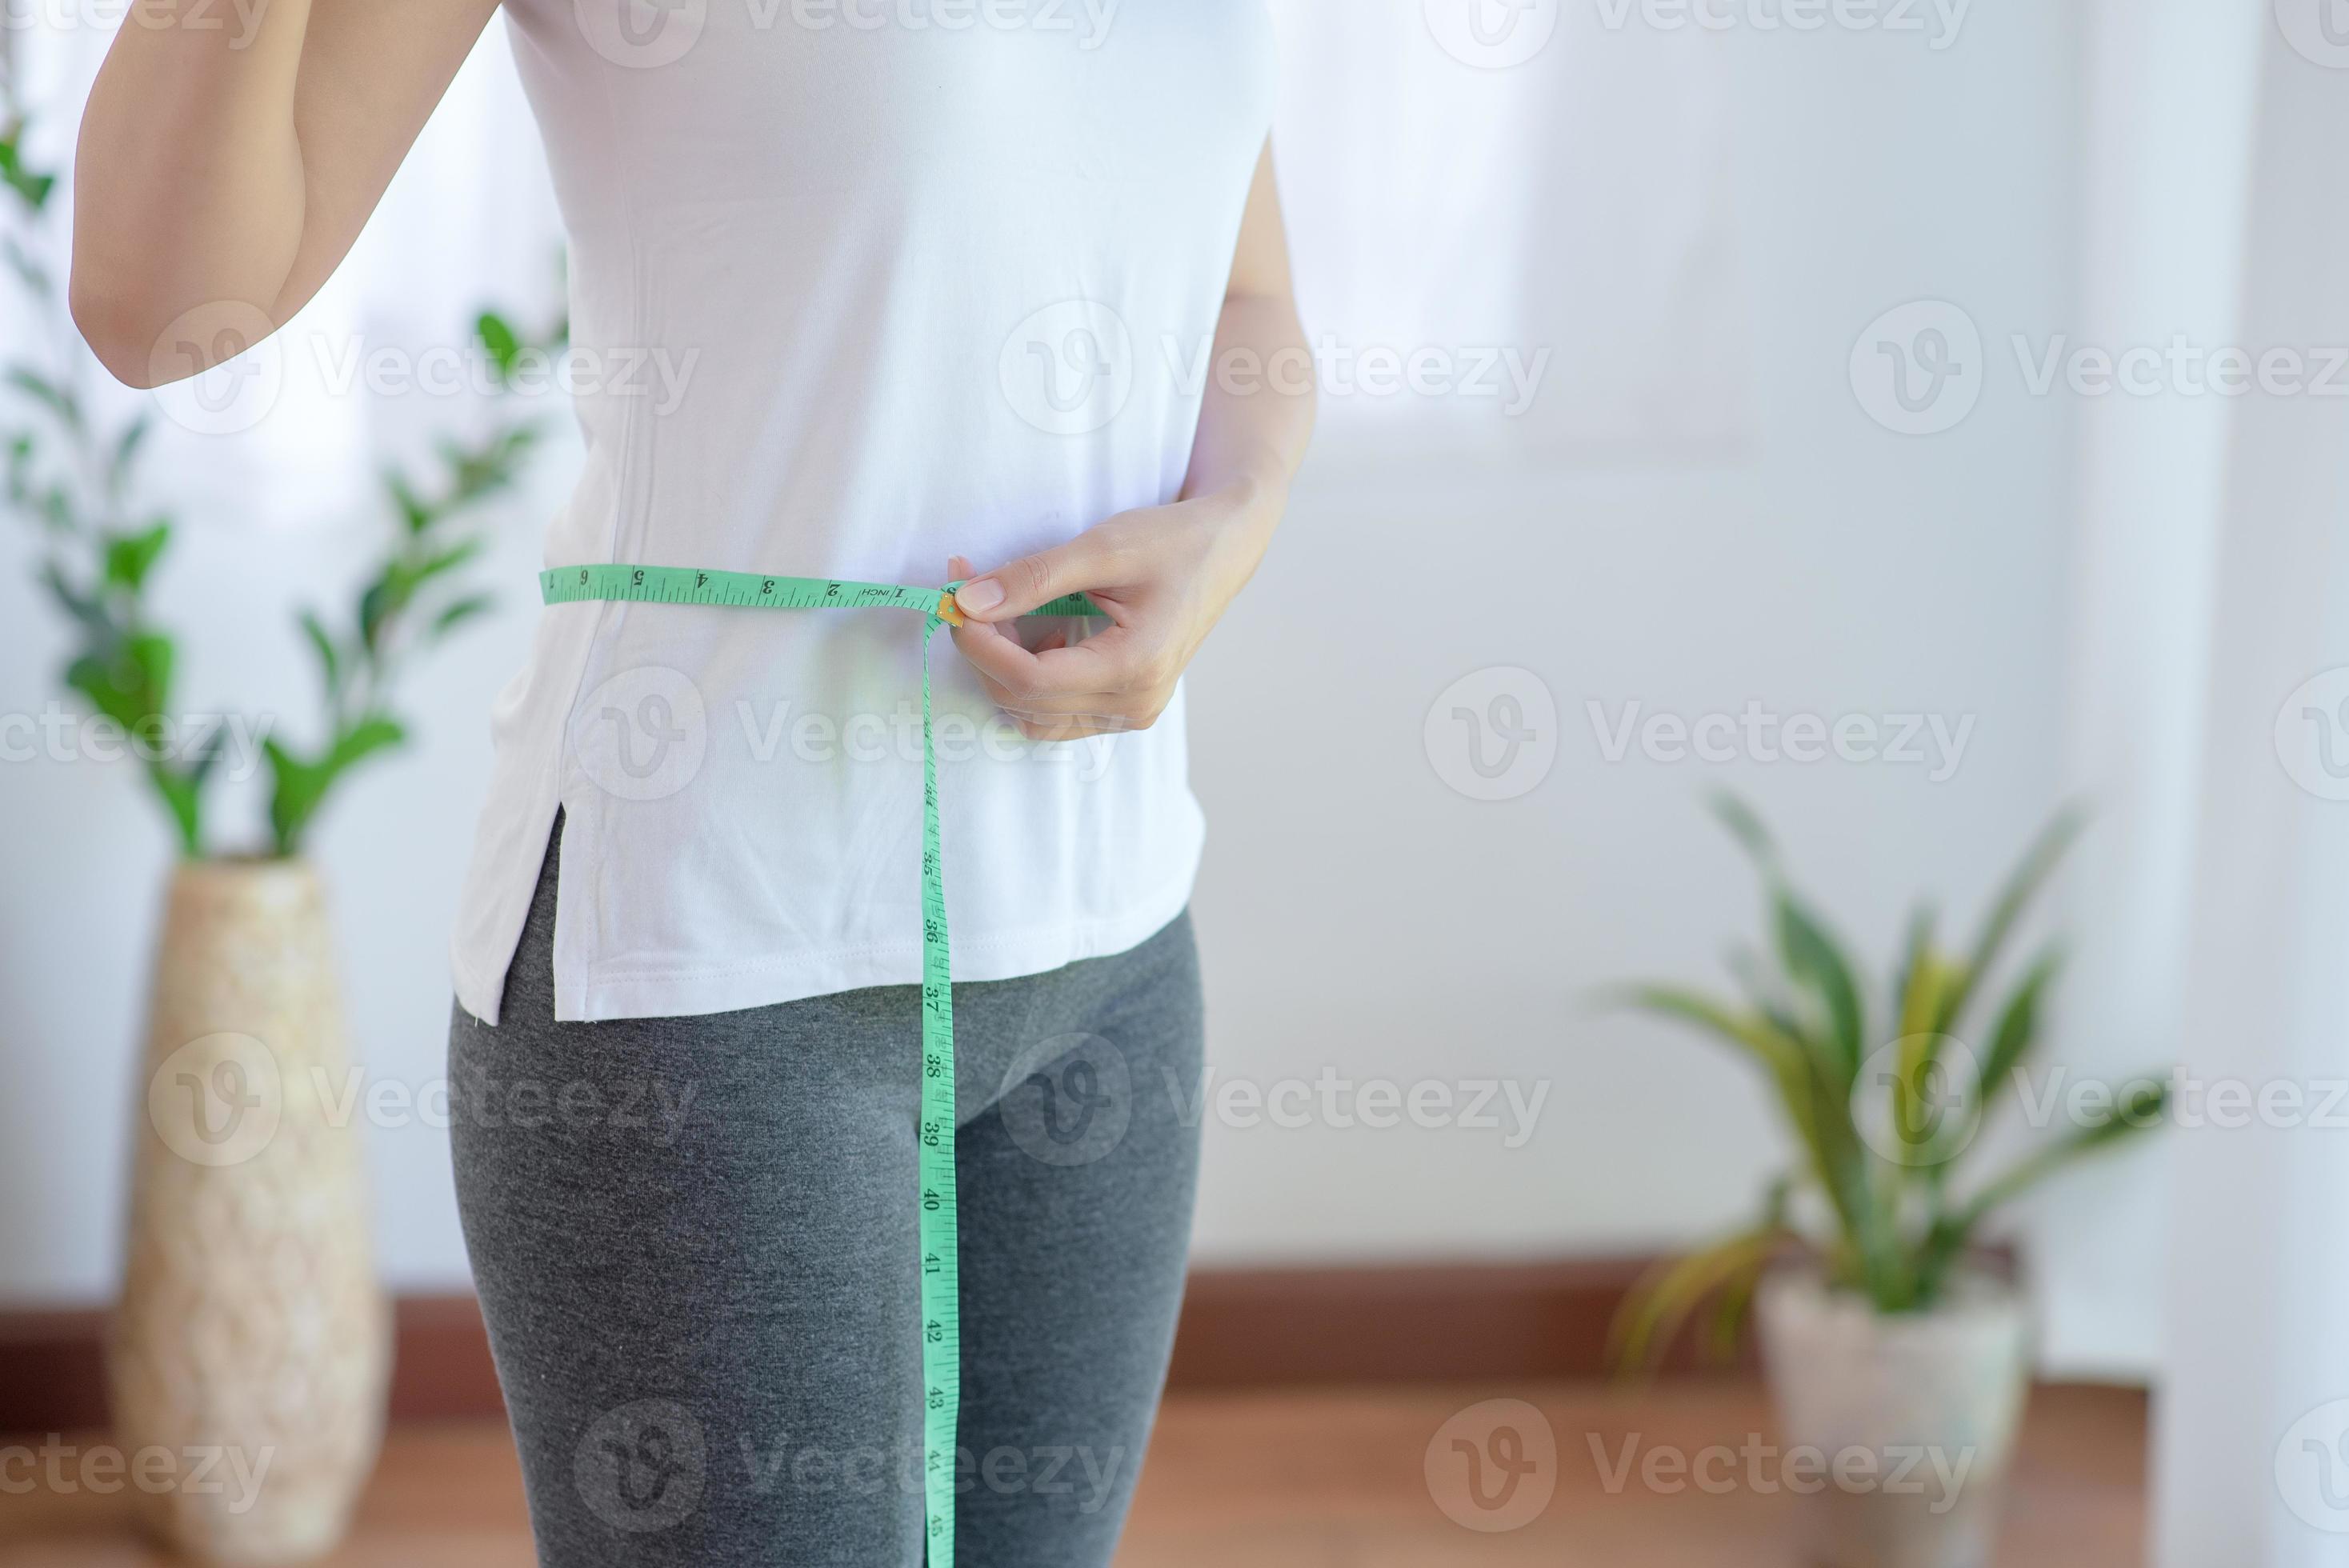
[[[904,587],[829,577],[759,577],[686,566],[557,566],[538,573],[545,603],[698,603],[728,610],[921,610],[921,1502],[930,1568],[954,1568],[954,1437],[963,1411],[961,1258],[954,1232],[954,974],[937,833],[937,742],[930,725],[930,634],[963,624],[961,584]],[[1083,594],[1031,615],[1099,615]]]

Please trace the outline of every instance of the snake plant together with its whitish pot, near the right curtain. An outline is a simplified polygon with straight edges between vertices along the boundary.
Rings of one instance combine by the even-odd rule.
[[[1943,948],[1919,908],[1872,1000],[1759,819],[1731,798],[1717,812],[1762,873],[1769,958],[1734,955],[1734,998],[1649,984],[1628,1000],[1759,1066],[1799,1160],[1752,1228],[1640,1282],[1614,1357],[1651,1366],[1701,1314],[1708,1347],[1729,1352],[1752,1310],[1806,1561],[1983,1568],[2030,1390],[2030,1319],[1985,1253],[1985,1223],[2074,1160],[2159,1124],[2168,1103],[2152,1077],[2074,1096],[2060,1136],[1966,1178],[1985,1117],[2039,1045],[2060,951],[2022,965],[2004,1000],[1992,976],[2079,817],[2039,836],[1968,948]]]

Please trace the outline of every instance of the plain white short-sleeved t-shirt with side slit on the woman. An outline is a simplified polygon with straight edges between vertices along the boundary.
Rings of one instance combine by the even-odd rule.
[[[1174,500],[1271,122],[1261,0],[507,0],[587,460],[547,566],[944,582]],[[921,617],[540,613],[453,941],[496,1021],[557,805],[557,1019],[921,979]],[[1191,897],[1184,702],[1036,746],[944,631],[954,979]]]

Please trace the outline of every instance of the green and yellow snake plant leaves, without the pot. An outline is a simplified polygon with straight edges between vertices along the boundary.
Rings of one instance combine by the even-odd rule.
[[[2025,962],[2004,998],[1992,976],[2079,836],[2077,812],[2030,845],[1964,948],[1945,948],[1931,906],[1919,906],[1882,1000],[1795,892],[1755,812],[1727,796],[1715,812],[1762,876],[1766,955],[1731,955],[1731,998],[1642,984],[1626,1000],[1759,1066],[1799,1157],[1771,1183],[1759,1221],[1640,1282],[1614,1329],[1616,1364],[1628,1368],[1651,1366],[1698,1314],[1705,1347],[1734,1350],[1762,1272],[1788,1256],[1809,1256],[1830,1286],[1877,1312],[1926,1312],[1947,1298],[1994,1209],[2159,1124],[2168,1106],[2168,1084],[2149,1075],[2006,1169],[1980,1181],[1961,1169],[2039,1045],[2060,948]]]

